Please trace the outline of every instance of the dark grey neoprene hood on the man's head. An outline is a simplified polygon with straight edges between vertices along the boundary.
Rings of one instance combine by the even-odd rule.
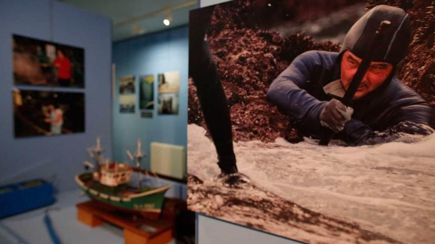
[[[374,54],[373,61],[396,66],[406,55],[409,46],[411,21],[403,9],[389,5],[378,5],[356,21],[345,37],[340,54],[349,50],[360,58],[364,57],[379,24],[384,20],[390,21],[391,25],[380,41],[381,46]]]

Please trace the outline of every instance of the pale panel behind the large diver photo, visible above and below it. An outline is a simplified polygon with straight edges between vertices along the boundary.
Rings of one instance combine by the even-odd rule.
[[[200,0],[201,7],[227,0]],[[197,244],[300,244],[286,238],[267,234],[244,226],[196,214]]]

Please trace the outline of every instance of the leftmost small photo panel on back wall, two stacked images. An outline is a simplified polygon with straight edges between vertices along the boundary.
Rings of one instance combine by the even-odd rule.
[[[134,113],[135,105],[135,77],[134,75],[121,76],[119,79],[119,111]]]

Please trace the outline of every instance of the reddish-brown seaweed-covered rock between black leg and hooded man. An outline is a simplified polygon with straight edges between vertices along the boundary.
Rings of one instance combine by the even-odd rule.
[[[302,33],[282,38],[248,28],[223,30],[209,41],[230,105],[234,139],[273,141],[279,136],[299,141],[290,134],[288,116],[266,101],[267,89],[299,54],[338,51],[339,44],[316,42]]]

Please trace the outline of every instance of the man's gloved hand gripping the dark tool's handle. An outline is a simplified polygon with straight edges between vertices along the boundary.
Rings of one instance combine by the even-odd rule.
[[[340,101],[332,99],[320,112],[320,124],[334,132],[342,131],[345,123],[350,120],[353,108],[346,107]]]

